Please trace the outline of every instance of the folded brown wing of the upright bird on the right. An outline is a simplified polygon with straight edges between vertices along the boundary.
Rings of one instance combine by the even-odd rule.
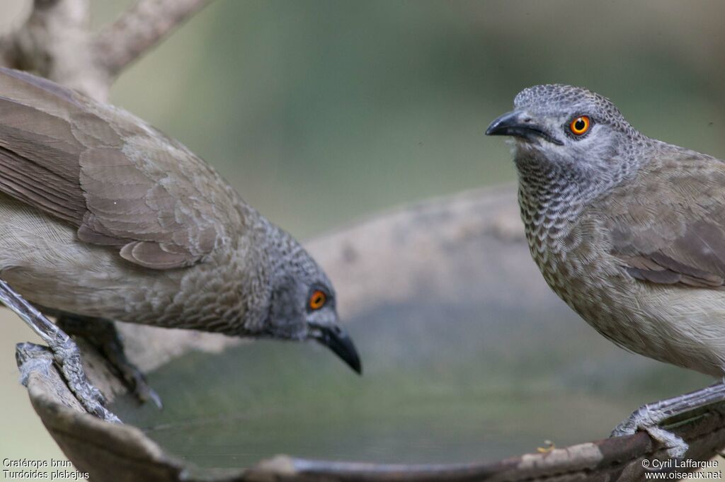
[[[674,148],[674,146],[673,146]],[[617,188],[606,204],[612,254],[641,281],[725,285],[725,163],[676,151]]]

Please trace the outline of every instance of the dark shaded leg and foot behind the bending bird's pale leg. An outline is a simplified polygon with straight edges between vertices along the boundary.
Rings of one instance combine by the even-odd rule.
[[[58,317],[57,323],[67,333],[82,336],[93,344],[120,375],[128,390],[136,396],[139,402],[145,403],[150,400],[159,409],[163,407],[161,397],[149,386],[144,373],[141,373],[141,370],[138,370],[136,365],[133,365],[126,357],[123,351],[123,341],[112,322],[99,318],[88,319],[62,315]]]

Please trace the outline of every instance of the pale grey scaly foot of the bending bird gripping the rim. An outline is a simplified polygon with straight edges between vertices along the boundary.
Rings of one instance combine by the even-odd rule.
[[[101,391],[91,385],[86,378],[83,362],[80,360],[80,351],[70,338],[60,339],[52,349],[33,343],[17,344],[15,357],[21,369],[23,385],[27,386],[31,370],[38,368],[47,370],[51,364],[55,364],[70,391],[88,413],[107,422],[121,423],[121,420],[104,406],[106,400]]]

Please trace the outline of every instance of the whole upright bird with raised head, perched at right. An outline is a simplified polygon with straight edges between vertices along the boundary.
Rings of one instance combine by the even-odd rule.
[[[725,162],[648,138],[604,97],[534,86],[488,135],[512,136],[531,256],[549,286],[619,346],[725,374]],[[725,399],[718,383],[647,404],[613,436]]]

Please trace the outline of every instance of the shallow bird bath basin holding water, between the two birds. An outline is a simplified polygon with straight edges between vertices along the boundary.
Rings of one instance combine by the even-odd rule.
[[[123,325],[165,402],[138,407],[86,347],[125,425],[83,413],[52,365],[19,360],[75,467],[109,482],[638,480],[664,451],[645,433],[606,439],[610,429],[639,404],[709,383],[621,351],[549,291],[513,186],[307,246],[339,291],[363,378],[317,346]],[[725,446],[723,413],[679,420],[688,458]]]

